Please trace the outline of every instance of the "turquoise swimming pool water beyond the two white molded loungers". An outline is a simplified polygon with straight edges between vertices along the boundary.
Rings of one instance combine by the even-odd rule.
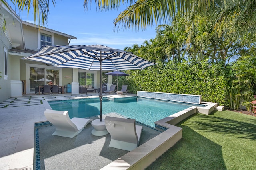
[[[91,117],[100,114],[99,98],[48,101],[53,110],[68,111],[72,117]],[[152,100],[140,97],[103,98],[102,114],[115,112],[141,123],[155,127],[154,122],[191,106],[164,100]]]

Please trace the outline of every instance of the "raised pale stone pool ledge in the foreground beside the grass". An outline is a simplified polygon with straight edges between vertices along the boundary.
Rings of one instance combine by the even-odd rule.
[[[182,138],[182,128],[174,125],[168,126],[170,129],[111,162],[101,170],[145,169]]]

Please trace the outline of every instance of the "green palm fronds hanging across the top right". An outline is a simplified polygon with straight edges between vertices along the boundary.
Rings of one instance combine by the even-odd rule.
[[[90,1],[91,2],[91,1]],[[218,35],[241,36],[256,33],[256,0],[96,0],[100,10],[113,10],[128,4],[114,20],[117,29],[147,29],[154,23],[166,24],[175,16],[191,20],[195,14],[216,17],[214,30]],[[84,1],[88,9],[89,0]],[[216,15],[217,14],[217,15]],[[191,20],[192,21],[192,20]],[[229,24],[227,24],[229,23]],[[191,27],[191,32],[194,31]]]

